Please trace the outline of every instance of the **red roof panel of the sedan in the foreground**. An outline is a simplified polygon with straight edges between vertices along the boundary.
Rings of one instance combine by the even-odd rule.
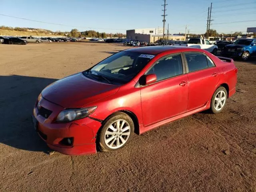
[[[144,54],[152,54],[152,55],[157,55],[159,53],[165,52],[165,51],[170,51],[170,50],[175,50],[175,51],[198,51],[200,49],[198,48],[190,48],[190,47],[185,47],[185,46],[148,46],[148,47],[139,47],[139,48],[131,48],[131,49],[126,49],[124,51],[132,51],[132,52],[139,52],[139,53],[144,53]]]

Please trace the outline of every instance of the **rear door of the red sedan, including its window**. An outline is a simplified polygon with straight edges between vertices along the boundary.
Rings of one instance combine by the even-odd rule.
[[[202,52],[184,52],[188,68],[189,97],[187,111],[204,106],[211,100],[220,80],[220,71]]]

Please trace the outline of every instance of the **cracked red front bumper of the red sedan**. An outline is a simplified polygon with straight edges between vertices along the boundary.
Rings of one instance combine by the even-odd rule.
[[[55,122],[55,118],[64,108],[42,98],[40,106],[52,111],[48,118],[41,116],[34,106],[33,115],[38,121],[36,131],[46,144],[63,154],[82,155],[96,153],[96,134],[101,123],[90,118],[72,122]],[[71,146],[63,144],[64,138],[74,138]]]

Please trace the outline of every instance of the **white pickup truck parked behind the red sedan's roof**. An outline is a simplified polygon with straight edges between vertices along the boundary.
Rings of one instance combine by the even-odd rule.
[[[190,38],[188,44],[181,44],[181,46],[194,47],[199,49],[204,49],[212,54],[216,55],[218,46],[211,44],[207,39],[201,38]]]

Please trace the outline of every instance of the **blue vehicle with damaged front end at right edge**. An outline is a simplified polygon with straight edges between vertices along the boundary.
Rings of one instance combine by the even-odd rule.
[[[234,44],[226,45],[221,54],[246,61],[250,56],[256,56],[256,39],[238,39]]]

